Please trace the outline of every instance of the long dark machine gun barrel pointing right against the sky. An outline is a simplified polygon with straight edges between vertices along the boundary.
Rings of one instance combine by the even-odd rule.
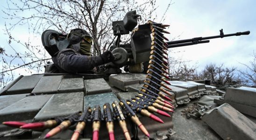
[[[249,35],[249,34],[250,34],[250,31],[237,32],[234,34],[224,35],[223,29],[221,29],[220,35],[207,36],[207,37],[196,37],[196,38],[192,38],[192,39],[170,41],[170,42],[166,42],[166,43],[168,44],[167,48],[175,48],[175,47],[189,46],[189,45],[195,45],[195,44],[201,44],[201,43],[209,43],[210,41],[208,39],[213,39],[213,38],[223,38],[223,37],[228,37],[228,36],[239,36],[239,35]]]

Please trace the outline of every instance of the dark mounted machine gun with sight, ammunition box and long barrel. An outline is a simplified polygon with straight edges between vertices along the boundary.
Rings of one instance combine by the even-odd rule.
[[[140,15],[136,14],[136,11],[129,11],[124,16],[122,21],[114,21],[112,23],[113,33],[115,36],[117,36],[117,39],[109,50],[114,54],[115,61],[113,63],[105,64],[104,69],[101,69],[104,72],[101,74],[118,74],[121,73],[120,68],[125,65],[133,65],[136,63],[149,61],[152,31],[150,29],[149,23],[138,25],[138,28],[135,28],[137,26],[137,20],[140,19],[140,17]],[[130,43],[120,44],[121,35],[127,35],[130,31],[132,31]],[[223,38],[235,35],[249,35],[249,33],[250,31],[224,35],[223,29],[221,29],[220,35],[170,41],[165,43],[165,47],[174,48],[200,43],[208,43],[210,42],[209,39],[213,38]],[[165,37],[163,39],[168,40]]]

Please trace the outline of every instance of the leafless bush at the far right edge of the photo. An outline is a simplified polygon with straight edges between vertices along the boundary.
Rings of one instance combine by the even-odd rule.
[[[256,52],[253,52],[253,60],[249,61],[249,65],[246,66],[246,71],[239,70],[243,77],[247,78],[249,85],[256,86]]]

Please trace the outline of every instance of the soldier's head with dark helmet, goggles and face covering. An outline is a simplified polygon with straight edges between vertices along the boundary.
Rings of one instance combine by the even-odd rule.
[[[79,51],[82,55],[91,56],[93,39],[84,29],[72,29],[67,39],[72,49]]]

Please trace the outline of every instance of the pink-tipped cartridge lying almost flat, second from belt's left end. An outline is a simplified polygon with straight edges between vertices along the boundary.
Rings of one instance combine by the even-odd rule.
[[[60,123],[60,122],[59,122]],[[44,122],[36,122],[36,123],[28,123],[26,125],[21,126],[22,129],[38,129],[38,128],[51,128],[54,126],[57,126],[58,122],[57,120],[47,120]]]

